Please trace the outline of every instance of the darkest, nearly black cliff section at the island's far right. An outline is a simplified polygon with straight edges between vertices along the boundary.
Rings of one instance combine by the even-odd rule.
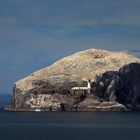
[[[116,86],[117,101],[133,109],[140,109],[140,64],[131,63],[119,71]]]

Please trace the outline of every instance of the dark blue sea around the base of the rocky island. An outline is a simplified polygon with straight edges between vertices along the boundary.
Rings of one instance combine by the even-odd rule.
[[[0,140],[140,140],[140,112],[8,112],[0,94]]]

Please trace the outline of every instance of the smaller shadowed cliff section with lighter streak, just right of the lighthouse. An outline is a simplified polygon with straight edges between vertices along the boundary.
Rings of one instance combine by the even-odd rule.
[[[94,94],[105,101],[116,101],[116,88],[119,80],[118,72],[107,71],[96,77],[92,83]]]

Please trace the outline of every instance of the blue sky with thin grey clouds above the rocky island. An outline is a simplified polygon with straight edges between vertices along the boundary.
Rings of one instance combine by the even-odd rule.
[[[0,0],[0,93],[88,48],[140,54],[140,0]]]

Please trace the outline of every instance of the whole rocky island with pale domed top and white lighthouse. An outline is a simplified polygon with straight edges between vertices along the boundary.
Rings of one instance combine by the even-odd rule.
[[[13,111],[140,110],[140,59],[88,49],[17,81]]]

